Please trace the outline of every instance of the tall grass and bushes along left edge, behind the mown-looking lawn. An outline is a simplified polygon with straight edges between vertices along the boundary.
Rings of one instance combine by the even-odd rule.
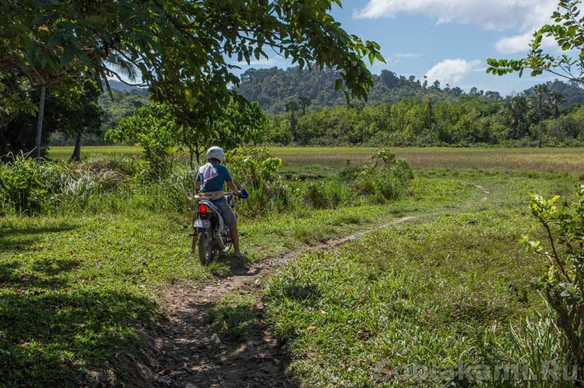
[[[0,209],[4,214],[119,212],[141,184],[140,164],[129,157],[97,157],[82,163],[8,155],[0,164]],[[176,203],[176,201],[175,201]]]

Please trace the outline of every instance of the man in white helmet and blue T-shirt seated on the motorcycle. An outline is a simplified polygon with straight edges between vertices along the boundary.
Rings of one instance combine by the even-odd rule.
[[[225,200],[223,186],[227,183],[229,190],[236,194],[236,196],[240,196],[241,192],[233,183],[229,170],[221,165],[224,161],[225,152],[223,151],[223,148],[209,148],[209,150],[207,150],[207,164],[199,168],[194,185],[197,190],[200,190],[199,194],[209,198],[209,200],[212,201],[212,203],[214,203],[214,205],[216,205],[221,211],[223,221],[225,222],[225,225],[229,227],[229,234],[231,235],[234,247],[234,256],[238,259],[245,259],[245,256],[241,253],[239,247],[237,219],[233,210]]]

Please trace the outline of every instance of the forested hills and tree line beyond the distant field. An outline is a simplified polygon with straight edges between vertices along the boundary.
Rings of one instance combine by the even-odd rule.
[[[271,122],[269,144],[391,146],[471,146],[474,144],[532,146],[539,135],[537,88],[513,96],[494,91],[427,84],[414,76],[388,70],[375,75],[369,101],[347,105],[335,92],[337,75],[330,69],[302,71],[249,69],[238,91],[257,101]],[[543,141],[549,146],[584,144],[584,89],[561,81],[547,90],[542,119]],[[104,144],[103,135],[124,117],[148,104],[148,91],[111,82],[100,95],[100,130],[88,133],[85,144]],[[122,89],[122,90],[118,90]],[[53,128],[47,128],[52,131]],[[74,137],[55,133],[52,145],[72,144]]]

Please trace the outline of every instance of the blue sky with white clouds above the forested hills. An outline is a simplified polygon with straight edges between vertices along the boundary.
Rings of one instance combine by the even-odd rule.
[[[403,76],[438,79],[468,91],[475,86],[504,95],[553,80],[485,73],[486,58],[519,58],[528,51],[533,31],[557,8],[557,0],[344,0],[333,16],[344,29],[376,41],[389,69]],[[548,49],[555,48],[550,43]],[[287,67],[278,58],[252,67]],[[244,67],[243,69],[247,68]]]

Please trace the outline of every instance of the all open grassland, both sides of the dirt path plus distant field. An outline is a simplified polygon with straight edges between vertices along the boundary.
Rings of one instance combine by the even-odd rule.
[[[346,247],[302,255],[273,276],[263,297],[291,356],[289,373],[303,387],[366,387],[379,379],[415,385],[388,380],[385,371],[478,363],[493,343],[505,347],[510,325],[541,306],[532,290],[521,291],[539,273],[537,259],[517,244],[521,233],[539,233],[527,193],[569,198],[582,179],[581,151],[396,149],[416,166],[398,201],[244,219],[244,251],[262,260],[416,216]],[[70,150],[52,152],[66,158]],[[366,163],[372,149],[272,152],[285,175],[334,179],[346,159]],[[549,172],[550,163],[560,171]],[[150,204],[0,217],[0,385],[120,384],[143,334],[164,323],[161,290],[232,272],[228,260],[203,268],[189,252],[188,213]]]

